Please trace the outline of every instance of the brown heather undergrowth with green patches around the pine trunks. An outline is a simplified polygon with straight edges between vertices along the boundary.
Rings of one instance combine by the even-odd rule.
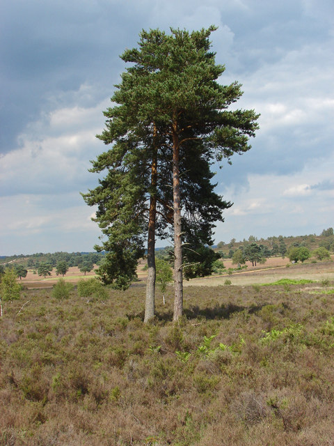
[[[143,324],[145,290],[31,290],[0,320],[0,445],[333,445],[326,283],[189,286]]]

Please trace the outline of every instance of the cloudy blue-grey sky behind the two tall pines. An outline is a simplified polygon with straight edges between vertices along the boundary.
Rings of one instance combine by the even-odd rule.
[[[141,29],[216,24],[222,84],[255,109],[252,149],[217,169],[233,201],[216,242],[334,226],[333,0],[2,0],[0,255],[91,251],[100,230],[79,192],[105,150],[113,85]],[[160,243],[166,245],[166,242]]]

